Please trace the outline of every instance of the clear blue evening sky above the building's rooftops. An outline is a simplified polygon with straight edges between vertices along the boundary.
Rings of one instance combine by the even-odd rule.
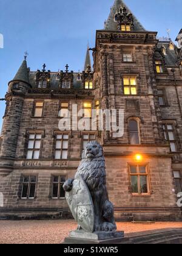
[[[147,30],[175,40],[182,28],[181,0],[125,0]],[[95,45],[95,30],[103,29],[113,0],[0,0],[0,98],[4,98],[8,81],[21,65],[24,52],[29,52],[32,71],[58,71],[68,63],[78,71],[84,67],[87,42]],[[5,103],[0,101],[0,129]]]

